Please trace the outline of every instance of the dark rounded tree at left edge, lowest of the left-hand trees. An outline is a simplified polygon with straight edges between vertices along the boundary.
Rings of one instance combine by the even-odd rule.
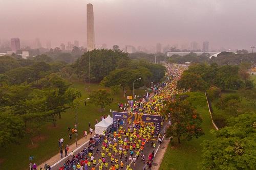
[[[18,143],[25,135],[25,123],[18,116],[0,114],[0,147]]]

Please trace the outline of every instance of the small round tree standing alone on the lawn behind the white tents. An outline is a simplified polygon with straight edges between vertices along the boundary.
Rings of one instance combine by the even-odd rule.
[[[98,91],[93,91],[90,94],[89,103],[100,106],[100,111],[102,111],[105,106],[109,106],[112,103],[110,96],[111,95],[108,93],[108,91],[99,89]]]

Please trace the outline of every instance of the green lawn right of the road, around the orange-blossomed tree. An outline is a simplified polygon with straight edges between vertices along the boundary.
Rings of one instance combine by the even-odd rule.
[[[199,164],[202,160],[202,147],[201,143],[203,140],[211,140],[214,136],[210,133],[210,130],[215,129],[211,123],[210,114],[206,99],[202,100],[204,93],[190,93],[191,95],[200,95],[200,98],[194,98],[193,105],[196,106],[198,113],[200,113],[203,122],[202,128],[204,135],[198,139],[192,139],[186,141],[181,140],[180,144],[177,144],[176,139],[170,142],[168,148],[164,154],[160,170],[171,170],[171,169],[200,169]]]

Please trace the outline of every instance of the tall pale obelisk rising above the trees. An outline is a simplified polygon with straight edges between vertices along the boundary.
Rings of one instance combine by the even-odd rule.
[[[87,4],[87,50],[95,49],[93,5]]]

